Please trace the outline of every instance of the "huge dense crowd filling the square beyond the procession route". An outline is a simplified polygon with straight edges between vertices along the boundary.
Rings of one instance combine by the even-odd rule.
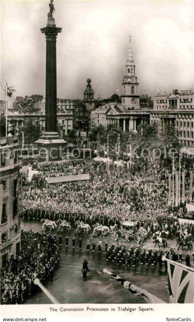
[[[37,164],[39,173],[23,187],[24,220],[42,218],[70,222],[81,220],[90,225],[110,226],[125,220],[148,225],[171,225],[173,217],[182,216],[185,209],[172,212],[168,204],[168,173],[154,169],[147,173],[131,173],[125,169],[107,168],[99,162],[84,160],[61,164]],[[85,174],[89,181],[48,184],[52,175]],[[170,228],[170,227],[169,227]]]

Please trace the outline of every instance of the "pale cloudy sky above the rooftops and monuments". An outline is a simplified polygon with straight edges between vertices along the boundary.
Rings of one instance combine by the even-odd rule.
[[[1,2],[1,83],[17,95],[45,93],[49,1]],[[95,98],[120,89],[129,34],[140,94],[158,88],[193,89],[193,1],[54,1],[57,38],[57,96],[82,98],[86,79]],[[45,95],[45,94],[44,94]]]

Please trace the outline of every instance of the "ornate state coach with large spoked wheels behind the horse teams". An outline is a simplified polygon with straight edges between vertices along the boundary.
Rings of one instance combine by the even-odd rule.
[[[121,229],[114,229],[111,235],[111,238],[117,240],[118,237],[123,237],[126,241],[130,242],[132,239],[136,243],[143,243],[144,239],[147,237],[148,233],[146,229],[140,227],[135,231],[134,226],[135,222],[132,221],[124,221],[121,224]]]

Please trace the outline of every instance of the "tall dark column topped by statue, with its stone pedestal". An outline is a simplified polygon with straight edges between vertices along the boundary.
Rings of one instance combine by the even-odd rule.
[[[67,142],[57,132],[57,71],[56,71],[56,39],[62,28],[57,28],[53,18],[53,0],[50,4],[48,21],[41,32],[46,36],[46,111],[45,111],[45,132],[36,141],[40,157],[45,161],[61,160],[63,148]]]

